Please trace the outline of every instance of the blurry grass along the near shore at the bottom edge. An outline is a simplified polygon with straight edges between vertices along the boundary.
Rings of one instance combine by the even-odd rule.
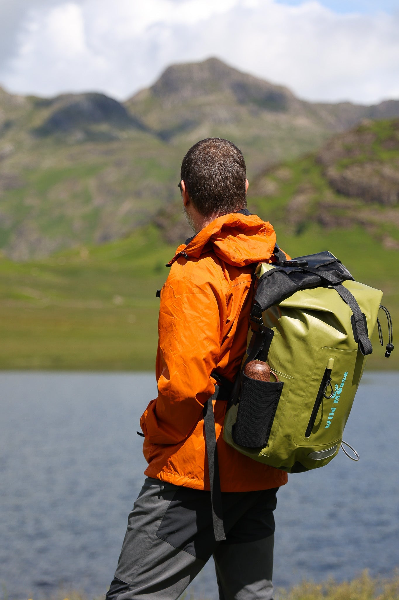
[[[179,600],[209,600],[208,596],[195,589],[184,592]],[[399,598],[399,569],[388,577],[372,577],[368,571],[351,581],[337,582],[333,579],[315,583],[314,581],[301,581],[290,589],[277,589],[276,600],[398,600]],[[104,600],[104,596],[92,599],[77,590],[61,589],[51,600]],[[6,590],[3,590],[1,600],[8,600]],[[42,600],[40,596],[33,595],[28,600]]]

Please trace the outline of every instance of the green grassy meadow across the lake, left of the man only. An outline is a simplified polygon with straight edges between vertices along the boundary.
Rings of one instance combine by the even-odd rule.
[[[0,260],[0,368],[152,370],[171,253],[147,227],[50,259]]]

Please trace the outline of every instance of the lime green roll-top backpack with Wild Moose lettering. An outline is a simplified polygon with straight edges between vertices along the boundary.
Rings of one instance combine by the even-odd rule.
[[[323,467],[345,444],[343,430],[373,352],[370,338],[382,292],[354,281],[327,251],[261,263],[255,274],[251,339],[226,413],[224,440],[289,473]],[[386,356],[392,349],[389,327]],[[243,373],[257,358],[268,362],[274,382]]]

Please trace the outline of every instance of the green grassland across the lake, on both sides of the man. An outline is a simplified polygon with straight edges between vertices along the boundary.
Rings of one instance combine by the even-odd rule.
[[[260,214],[266,218],[267,204],[264,208]],[[399,283],[392,277],[399,272],[397,251],[385,250],[357,226],[343,233],[312,224],[296,236],[281,225],[276,230],[291,256],[328,249],[358,280],[382,289],[397,337]],[[50,259],[0,260],[0,368],[153,370],[156,290],[174,250],[150,226],[121,241]],[[399,368],[399,352],[383,358],[376,335],[373,345],[368,368]]]

